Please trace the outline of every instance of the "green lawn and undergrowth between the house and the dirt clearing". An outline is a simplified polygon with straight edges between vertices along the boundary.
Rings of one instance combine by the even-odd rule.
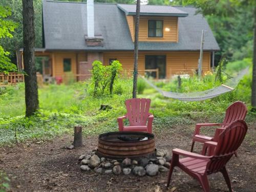
[[[237,65],[232,64],[237,69]],[[228,68],[228,70],[231,67]],[[182,90],[177,89],[177,81],[157,82],[157,86],[167,91],[202,91],[216,87],[215,75],[207,75],[201,81],[196,78],[182,79]],[[0,145],[15,143],[15,129],[19,142],[27,139],[47,139],[63,133],[72,133],[73,126],[84,127],[84,135],[97,135],[118,130],[116,118],[124,115],[124,101],[132,97],[132,78],[116,81],[113,95],[92,96],[90,81],[60,86],[51,84],[38,89],[40,110],[30,118],[25,115],[24,84],[7,86],[0,90]],[[196,122],[221,122],[225,109],[233,101],[242,100],[250,109],[250,74],[245,76],[237,89],[231,93],[205,101],[186,102],[164,98],[156,90],[139,80],[143,94],[140,98],[151,98],[151,113],[154,114],[154,131],[169,129],[175,125],[191,125]],[[143,90],[145,87],[145,90]],[[112,106],[111,110],[100,111],[100,105]],[[253,117],[249,113],[247,120]]]

